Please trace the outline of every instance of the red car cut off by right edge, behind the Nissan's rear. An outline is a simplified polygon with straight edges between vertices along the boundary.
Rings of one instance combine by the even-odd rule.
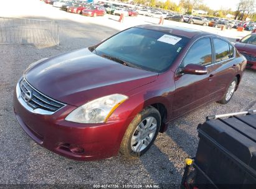
[[[247,59],[247,68],[256,70],[256,34],[237,39],[235,47]]]

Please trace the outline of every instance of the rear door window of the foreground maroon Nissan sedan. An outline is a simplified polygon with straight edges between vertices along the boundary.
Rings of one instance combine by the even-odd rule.
[[[229,44],[221,39],[213,39],[216,53],[216,62],[230,58]]]

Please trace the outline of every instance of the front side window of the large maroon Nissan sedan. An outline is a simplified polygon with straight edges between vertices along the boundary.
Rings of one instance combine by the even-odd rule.
[[[181,65],[186,67],[189,63],[204,66],[212,63],[212,46],[210,38],[199,39],[192,45]]]

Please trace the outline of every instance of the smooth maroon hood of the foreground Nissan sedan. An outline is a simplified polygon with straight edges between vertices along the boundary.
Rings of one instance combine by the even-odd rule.
[[[24,76],[41,93],[80,106],[92,99],[125,94],[151,83],[158,73],[131,68],[82,48],[37,63]]]

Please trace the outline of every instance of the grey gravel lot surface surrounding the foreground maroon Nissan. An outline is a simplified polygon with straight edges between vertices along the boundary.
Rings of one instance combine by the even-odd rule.
[[[33,185],[37,188],[72,188],[77,187],[75,185],[84,187],[83,184],[88,184],[86,186],[92,188],[93,184],[107,183],[154,183],[163,188],[176,188],[183,175],[184,159],[193,157],[196,153],[199,140],[196,127],[205,121],[206,116],[256,109],[256,72],[246,70],[239,90],[229,104],[209,104],[176,119],[170,124],[168,131],[159,134],[151,149],[138,160],[125,159],[118,155],[97,162],[77,162],[49,152],[32,141],[16,122],[12,111],[12,96],[19,77],[30,63],[40,58],[96,44],[135,23],[130,20],[131,18],[125,18],[126,24],[121,24],[115,21],[118,19],[115,16],[81,17],[59,11],[39,0],[29,0],[29,3],[30,7],[40,7],[37,7],[37,11],[27,8],[23,12],[8,12],[0,8],[1,16],[54,19],[60,25],[60,46],[0,45],[0,188],[19,188],[18,184],[38,184]],[[148,18],[144,17],[144,20],[141,17],[135,19],[138,21],[135,25],[158,21],[147,21]],[[226,37],[231,36],[232,40],[239,35],[247,34],[238,34],[234,30],[230,31],[232,34],[215,28],[211,30],[225,34]],[[31,187],[23,185],[26,186]]]

